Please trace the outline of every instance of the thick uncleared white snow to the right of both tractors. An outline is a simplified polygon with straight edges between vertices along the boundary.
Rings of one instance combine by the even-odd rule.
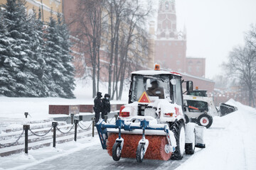
[[[256,169],[256,110],[231,99],[238,111],[214,117],[206,130],[206,149],[194,154],[181,169]]]

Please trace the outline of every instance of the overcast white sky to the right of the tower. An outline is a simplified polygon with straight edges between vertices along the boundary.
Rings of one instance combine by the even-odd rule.
[[[186,26],[187,57],[206,58],[206,78],[212,79],[256,24],[256,0],[176,0],[176,15],[178,30]]]

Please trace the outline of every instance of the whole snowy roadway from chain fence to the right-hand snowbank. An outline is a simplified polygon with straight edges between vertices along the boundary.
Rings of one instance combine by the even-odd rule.
[[[214,117],[213,125],[205,131],[205,149],[196,149],[192,156],[180,161],[121,158],[114,162],[103,150],[98,137],[78,142],[29,151],[28,155],[0,157],[3,169],[256,169],[256,110],[231,101],[238,111]]]

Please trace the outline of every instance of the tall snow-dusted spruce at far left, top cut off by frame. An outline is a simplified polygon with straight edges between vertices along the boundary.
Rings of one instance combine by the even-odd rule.
[[[30,71],[31,59],[28,57],[30,48],[25,5],[24,0],[7,0],[2,5],[5,8],[2,13],[6,39],[10,42],[9,53],[2,66],[6,73],[3,77],[8,80],[8,90],[4,93],[6,96],[34,96],[36,93],[30,89],[33,74]]]

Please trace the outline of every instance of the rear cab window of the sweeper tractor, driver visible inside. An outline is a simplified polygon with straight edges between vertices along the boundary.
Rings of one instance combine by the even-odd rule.
[[[144,92],[151,102],[159,98],[170,98],[169,80],[169,75],[134,75],[130,100],[139,101]]]

